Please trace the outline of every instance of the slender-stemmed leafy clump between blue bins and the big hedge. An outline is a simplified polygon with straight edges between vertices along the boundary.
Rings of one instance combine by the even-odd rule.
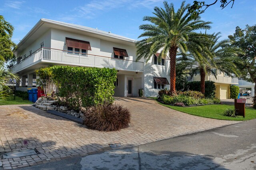
[[[36,70],[36,74],[38,75],[38,79],[36,79],[36,84],[38,84],[44,90],[44,94],[46,97],[51,95],[55,88],[55,81],[53,79],[52,69],[51,67],[42,67],[39,70]]]

